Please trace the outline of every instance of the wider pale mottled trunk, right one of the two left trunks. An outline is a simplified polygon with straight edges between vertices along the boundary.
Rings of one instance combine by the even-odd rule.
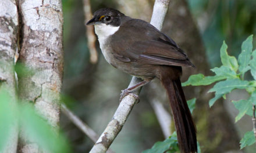
[[[19,1],[22,37],[19,62],[30,72],[18,74],[19,96],[58,130],[63,72],[62,1]],[[20,132],[19,152],[40,152]]]

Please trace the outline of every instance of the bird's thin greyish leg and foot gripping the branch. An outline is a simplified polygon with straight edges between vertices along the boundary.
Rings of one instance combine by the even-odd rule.
[[[137,88],[140,88],[141,86],[146,85],[148,82],[150,82],[150,80],[149,81],[148,80],[144,80],[144,81],[138,82],[136,85],[131,86],[130,88],[122,90],[122,93],[120,94],[119,101],[121,102],[123,97],[125,97],[127,94],[130,94],[130,96],[133,96],[139,102],[140,101],[140,97],[138,97],[137,94],[134,94],[132,92],[133,92],[133,90],[136,90]]]

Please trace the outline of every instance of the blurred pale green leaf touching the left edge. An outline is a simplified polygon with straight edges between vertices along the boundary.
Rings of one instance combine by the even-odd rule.
[[[16,105],[9,93],[0,90],[0,152],[5,147],[16,121]],[[16,124],[17,125],[17,124]]]

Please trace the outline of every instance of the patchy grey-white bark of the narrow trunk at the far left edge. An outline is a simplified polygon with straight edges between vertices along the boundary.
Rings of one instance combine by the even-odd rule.
[[[0,90],[6,90],[15,105],[15,53],[17,50],[18,12],[15,0],[0,1]],[[6,101],[7,102],[7,101]],[[3,101],[4,103],[4,101]],[[6,146],[2,152],[13,153],[17,148],[17,121],[13,122]]]

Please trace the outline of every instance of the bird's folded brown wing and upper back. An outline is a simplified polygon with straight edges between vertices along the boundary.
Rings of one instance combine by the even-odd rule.
[[[115,54],[122,56],[126,61],[193,66],[172,39],[143,20],[130,19],[122,24],[119,31],[112,36],[111,43]]]

